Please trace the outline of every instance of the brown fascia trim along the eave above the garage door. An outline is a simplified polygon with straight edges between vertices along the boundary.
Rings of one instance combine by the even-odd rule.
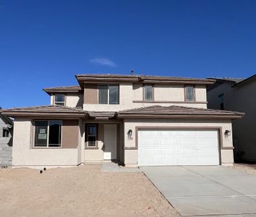
[[[239,115],[179,115],[179,114],[118,114],[117,117],[125,119],[241,119]]]

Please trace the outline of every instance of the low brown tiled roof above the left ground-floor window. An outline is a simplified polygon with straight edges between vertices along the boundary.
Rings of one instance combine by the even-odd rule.
[[[67,106],[34,106],[23,108],[3,109],[2,113],[7,116],[86,116],[82,108],[71,108]]]

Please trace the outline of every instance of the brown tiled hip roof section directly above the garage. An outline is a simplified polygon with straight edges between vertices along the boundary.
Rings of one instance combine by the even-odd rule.
[[[190,108],[183,106],[148,106],[119,111],[118,117],[141,118],[191,118],[191,119],[240,119],[243,113],[236,111],[213,110],[207,108]]]

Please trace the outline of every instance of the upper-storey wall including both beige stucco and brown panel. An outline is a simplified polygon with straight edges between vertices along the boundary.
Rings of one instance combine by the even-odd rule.
[[[84,88],[83,109],[87,111],[121,111],[155,105],[207,108],[205,85],[194,85],[195,101],[189,102],[185,101],[185,85],[154,84],[152,86],[152,101],[144,101],[143,84],[122,82],[119,83],[119,104],[99,104],[98,84],[87,83]]]

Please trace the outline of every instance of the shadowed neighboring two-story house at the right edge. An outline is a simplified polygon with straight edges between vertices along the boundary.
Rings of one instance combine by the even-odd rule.
[[[234,156],[237,161],[256,161],[256,75],[241,78],[216,78],[207,91],[208,107],[244,112],[233,122]]]

